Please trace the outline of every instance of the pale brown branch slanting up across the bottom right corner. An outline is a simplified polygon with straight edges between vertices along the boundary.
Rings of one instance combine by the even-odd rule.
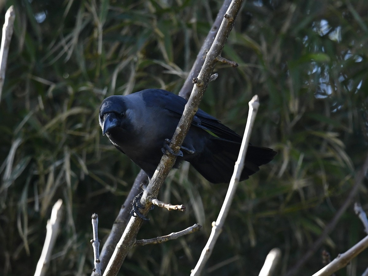
[[[368,247],[368,236],[355,244],[345,253],[339,254],[332,262],[314,273],[312,276],[329,276],[335,271],[345,267],[348,263]]]

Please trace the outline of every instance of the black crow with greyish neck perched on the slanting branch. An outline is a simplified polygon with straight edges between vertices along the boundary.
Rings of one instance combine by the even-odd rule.
[[[184,111],[187,100],[162,89],[145,89],[103,100],[99,122],[102,134],[137,164],[149,178]],[[219,120],[198,109],[174,167],[186,160],[212,183],[229,182],[242,137]],[[270,162],[276,152],[249,145],[241,180]]]

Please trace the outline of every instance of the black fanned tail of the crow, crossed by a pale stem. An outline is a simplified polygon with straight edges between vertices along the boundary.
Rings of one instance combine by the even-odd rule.
[[[229,182],[238,158],[240,143],[212,138],[201,155],[188,160],[192,166],[212,183]],[[240,180],[248,179],[259,166],[270,162],[276,152],[269,148],[249,145]]]

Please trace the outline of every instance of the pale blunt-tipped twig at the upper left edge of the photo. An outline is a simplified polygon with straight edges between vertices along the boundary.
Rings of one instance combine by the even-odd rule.
[[[3,26],[3,36],[1,38],[0,47],[0,100],[3,92],[3,85],[5,79],[6,62],[8,59],[9,46],[11,36],[13,35],[13,26],[15,20],[15,13],[13,5],[8,8],[5,14],[5,22]]]

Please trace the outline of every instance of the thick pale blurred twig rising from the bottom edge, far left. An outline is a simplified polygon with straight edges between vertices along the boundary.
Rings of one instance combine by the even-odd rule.
[[[46,275],[51,252],[54,248],[57,234],[59,233],[59,224],[63,214],[62,206],[63,201],[59,199],[52,208],[51,217],[47,221],[45,243],[43,244],[41,256],[36,266],[35,276]]]

